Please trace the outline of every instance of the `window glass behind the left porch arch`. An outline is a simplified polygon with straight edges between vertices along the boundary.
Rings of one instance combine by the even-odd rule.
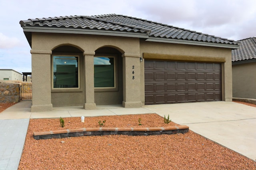
[[[53,88],[78,88],[78,57],[53,56]]]

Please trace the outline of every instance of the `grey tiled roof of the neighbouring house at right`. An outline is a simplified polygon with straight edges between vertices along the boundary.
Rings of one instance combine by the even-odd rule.
[[[232,50],[232,62],[256,59],[256,37],[241,39],[239,49]]]

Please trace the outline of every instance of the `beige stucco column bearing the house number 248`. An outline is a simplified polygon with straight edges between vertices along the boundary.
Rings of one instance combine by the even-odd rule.
[[[141,107],[140,55],[124,53],[123,57],[123,107]]]

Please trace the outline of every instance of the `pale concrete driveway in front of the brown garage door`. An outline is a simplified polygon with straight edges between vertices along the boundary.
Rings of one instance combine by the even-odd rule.
[[[148,105],[144,108],[256,161],[256,107],[234,102]]]

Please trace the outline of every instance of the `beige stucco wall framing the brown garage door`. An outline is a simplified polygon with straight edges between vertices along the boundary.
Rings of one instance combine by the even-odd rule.
[[[232,101],[231,49],[142,41],[140,43],[140,55],[143,55],[143,53],[168,54],[170,60],[172,55],[175,57],[179,55],[181,61],[186,61],[189,56],[196,58],[196,61],[202,59],[204,62],[206,62],[205,58],[209,58],[209,61],[210,57],[224,58],[225,62],[222,63],[222,100]],[[141,63],[141,70],[144,70],[144,62]],[[144,80],[144,71],[141,72],[140,76],[141,80]],[[140,86],[142,89],[141,101],[144,103],[144,81],[141,82]]]

